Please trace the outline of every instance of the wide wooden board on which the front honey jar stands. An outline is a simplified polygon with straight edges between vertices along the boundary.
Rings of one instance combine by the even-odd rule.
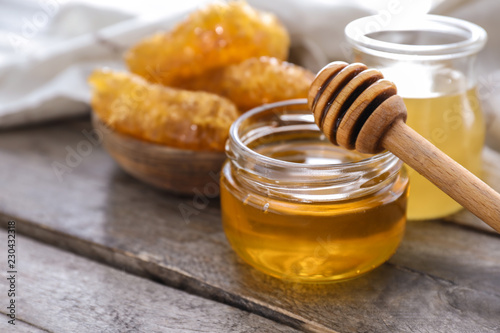
[[[51,163],[87,121],[0,134],[1,218],[25,234],[176,288],[308,331],[499,332],[500,238],[411,222],[386,264],[339,284],[261,274],[230,249],[212,200],[189,223],[179,198],[123,173],[100,147],[59,182]]]

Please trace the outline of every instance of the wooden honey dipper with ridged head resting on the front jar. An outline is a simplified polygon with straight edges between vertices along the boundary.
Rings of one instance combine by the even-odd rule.
[[[391,151],[500,233],[500,194],[406,125],[396,93],[375,69],[332,62],[314,79],[308,103],[332,143],[361,153]]]

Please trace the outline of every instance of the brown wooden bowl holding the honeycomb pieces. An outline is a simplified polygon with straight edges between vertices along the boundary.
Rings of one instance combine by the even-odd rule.
[[[94,113],[92,124],[102,135],[104,148],[135,178],[177,194],[218,194],[224,152],[185,150],[142,141],[109,128]]]

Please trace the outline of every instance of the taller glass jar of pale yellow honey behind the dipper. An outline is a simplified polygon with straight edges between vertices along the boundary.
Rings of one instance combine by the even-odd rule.
[[[384,24],[385,23],[385,24]],[[476,91],[474,60],[486,42],[481,27],[455,18],[422,15],[349,23],[353,61],[393,81],[408,109],[407,124],[477,176],[485,126]],[[461,206],[408,168],[409,219],[440,218]]]

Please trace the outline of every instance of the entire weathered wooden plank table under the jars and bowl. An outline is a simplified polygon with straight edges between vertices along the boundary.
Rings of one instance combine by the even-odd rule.
[[[409,222],[398,252],[361,278],[283,282],[233,253],[218,200],[183,218],[192,198],[88,149],[90,128],[78,118],[0,133],[0,222],[16,221],[18,260],[16,326],[4,316],[0,332],[500,332],[494,232]],[[88,154],[68,157],[79,148]],[[4,274],[6,244],[1,231]],[[2,277],[4,314],[7,289]]]

